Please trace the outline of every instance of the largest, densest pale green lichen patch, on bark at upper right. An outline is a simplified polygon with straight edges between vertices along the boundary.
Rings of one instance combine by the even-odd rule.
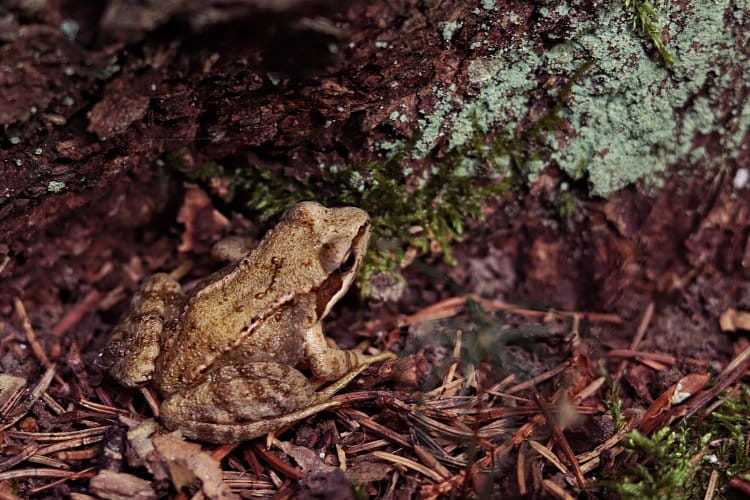
[[[712,106],[732,83],[717,78],[724,65],[747,64],[731,30],[724,29],[729,5],[730,0],[696,1],[668,11],[676,57],[671,71],[635,43],[637,35],[618,9],[603,10],[599,19],[579,27],[571,43],[547,53],[548,66],[567,70],[580,52],[596,61],[573,88],[566,117],[576,134],[553,154],[560,166],[573,175],[583,165],[594,192],[607,194],[684,158],[696,133],[716,133],[725,145],[744,135],[746,129],[726,129]],[[696,98],[702,90],[708,97]]]

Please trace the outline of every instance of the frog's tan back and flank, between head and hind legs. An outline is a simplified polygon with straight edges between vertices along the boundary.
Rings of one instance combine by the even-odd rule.
[[[279,257],[277,240],[267,235],[250,255],[191,291],[159,358],[156,382],[163,393],[189,385],[229,357],[296,363],[304,349],[302,333],[318,319],[314,304],[303,299],[316,286],[309,272],[314,263],[299,255]]]

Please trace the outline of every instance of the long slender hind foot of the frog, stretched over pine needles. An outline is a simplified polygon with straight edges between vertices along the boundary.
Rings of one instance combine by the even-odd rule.
[[[298,420],[310,417],[328,408],[339,406],[340,404],[341,402],[339,401],[327,401],[279,417],[248,423],[215,424],[187,420],[177,424],[175,430],[180,431],[187,438],[197,441],[207,441],[209,443],[224,444],[234,441],[246,441],[279,430],[285,425],[293,424]]]

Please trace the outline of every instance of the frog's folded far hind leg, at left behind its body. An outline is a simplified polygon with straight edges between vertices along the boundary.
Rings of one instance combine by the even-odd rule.
[[[126,387],[151,380],[156,358],[174,331],[183,301],[180,284],[169,274],[148,278],[112,331],[100,364]]]

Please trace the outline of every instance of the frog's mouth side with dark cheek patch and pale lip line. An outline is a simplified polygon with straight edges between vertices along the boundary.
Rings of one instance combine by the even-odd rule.
[[[354,281],[359,266],[362,264],[364,250],[367,248],[369,238],[370,221],[367,221],[360,226],[357,235],[352,239],[352,244],[341,265],[318,287],[315,296],[315,312],[318,318],[326,317],[336,302],[349,290],[349,286]]]

